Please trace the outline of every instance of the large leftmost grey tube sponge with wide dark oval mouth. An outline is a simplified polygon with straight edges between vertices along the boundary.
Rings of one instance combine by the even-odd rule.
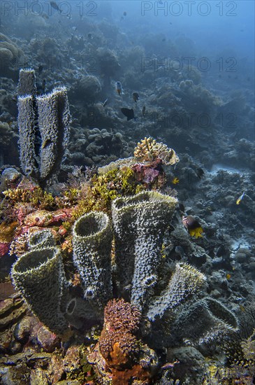
[[[61,311],[66,278],[59,248],[41,248],[25,253],[13,264],[11,277],[29,309],[45,326],[57,334],[68,328]]]

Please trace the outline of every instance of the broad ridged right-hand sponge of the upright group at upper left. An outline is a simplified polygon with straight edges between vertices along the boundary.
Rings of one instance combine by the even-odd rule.
[[[41,132],[40,179],[45,181],[61,164],[69,138],[70,111],[66,87],[36,97]]]

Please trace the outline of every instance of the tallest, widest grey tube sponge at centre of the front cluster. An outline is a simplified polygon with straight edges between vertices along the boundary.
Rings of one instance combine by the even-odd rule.
[[[143,309],[152,295],[163,234],[176,204],[174,197],[155,191],[117,198],[112,202],[119,290],[126,298],[131,288],[131,303],[139,309]]]

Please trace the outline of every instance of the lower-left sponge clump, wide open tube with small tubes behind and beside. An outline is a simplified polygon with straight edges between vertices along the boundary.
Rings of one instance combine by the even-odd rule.
[[[40,321],[52,332],[63,334],[70,324],[79,328],[81,319],[96,319],[89,302],[71,293],[52,231],[33,232],[28,245],[29,252],[14,263],[11,276]]]

